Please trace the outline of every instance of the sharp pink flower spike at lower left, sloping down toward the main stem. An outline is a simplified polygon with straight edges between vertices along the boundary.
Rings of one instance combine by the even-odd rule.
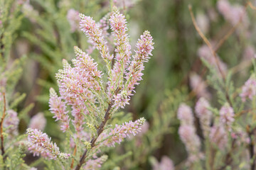
[[[57,145],[50,142],[50,138],[46,133],[41,132],[37,129],[27,129],[28,134],[28,150],[30,150],[33,155],[48,159],[68,159],[70,154],[61,153]]]

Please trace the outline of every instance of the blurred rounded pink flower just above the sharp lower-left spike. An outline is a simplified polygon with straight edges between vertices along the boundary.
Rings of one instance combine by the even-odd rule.
[[[46,127],[46,118],[43,116],[43,113],[37,113],[36,115],[34,115],[31,118],[28,127],[31,129],[44,130],[44,128]]]

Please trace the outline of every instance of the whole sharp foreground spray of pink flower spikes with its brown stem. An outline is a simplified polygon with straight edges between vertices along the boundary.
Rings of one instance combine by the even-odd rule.
[[[66,133],[68,145],[64,152],[40,130],[28,128],[28,149],[33,154],[54,159],[58,164],[50,169],[99,169],[107,160],[100,154],[105,147],[114,147],[125,137],[137,135],[145,119],[114,125],[111,120],[119,108],[129,104],[135,85],[142,80],[144,62],[154,49],[149,31],[144,31],[132,56],[127,34],[127,21],[117,8],[110,16],[114,36],[114,54],[105,41],[105,35],[90,16],[80,13],[80,29],[99,50],[106,68],[98,68],[90,55],[74,47],[73,67],[63,60],[63,69],[56,74],[60,96],[50,89],[50,112]],[[132,56],[132,57],[131,57]],[[106,69],[106,71],[105,71]],[[64,160],[65,159],[65,160]]]

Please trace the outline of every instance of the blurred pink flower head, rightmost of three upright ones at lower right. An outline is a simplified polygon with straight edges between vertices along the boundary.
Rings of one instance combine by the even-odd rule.
[[[225,106],[220,108],[220,123],[222,123],[230,131],[231,131],[231,125],[235,121],[234,116],[235,116],[234,110],[229,106],[228,103],[226,103]]]

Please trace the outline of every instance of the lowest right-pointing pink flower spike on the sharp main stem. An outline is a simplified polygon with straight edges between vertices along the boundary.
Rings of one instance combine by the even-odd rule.
[[[120,144],[125,137],[130,135],[137,135],[142,130],[142,125],[145,119],[140,118],[135,122],[129,121],[129,123],[123,123],[122,125],[115,125],[111,132],[103,132],[98,140],[104,140],[100,145],[107,145],[108,147],[114,147],[115,143]]]

